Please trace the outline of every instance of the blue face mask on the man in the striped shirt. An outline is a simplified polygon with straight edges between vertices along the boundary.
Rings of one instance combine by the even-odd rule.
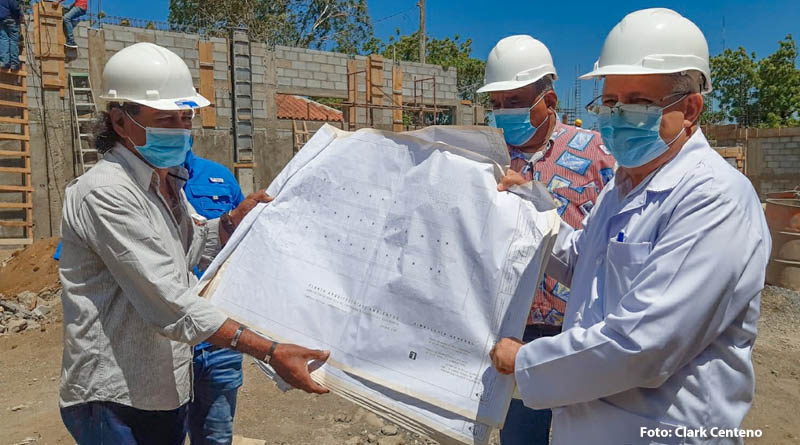
[[[181,165],[186,160],[186,153],[192,149],[192,131],[185,128],[151,128],[143,127],[127,112],[128,118],[145,131],[145,144],[133,144],[145,161],[156,168],[169,168]]]

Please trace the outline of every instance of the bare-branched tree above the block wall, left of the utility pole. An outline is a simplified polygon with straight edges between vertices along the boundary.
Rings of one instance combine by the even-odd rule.
[[[245,27],[271,44],[347,54],[372,36],[366,0],[170,0],[169,22],[212,35]]]

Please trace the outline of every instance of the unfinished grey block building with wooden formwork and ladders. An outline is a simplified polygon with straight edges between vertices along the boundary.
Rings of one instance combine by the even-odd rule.
[[[78,48],[69,49],[61,5],[33,8],[23,32],[27,66],[0,72],[3,244],[60,234],[64,189],[97,160],[89,139],[92,117],[104,106],[95,98],[105,62],[137,42],[164,46],[186,61],[195,87],[212,103],[195,119],[194,150],[234,171],[245,191],[266,187],[326,122],[403,130],[483,120],[475,114],[479,107],[459,99],[455,68],[270,47],[244,30],[221,38],[89,22],[76,28]],[[281,118],[278,95],[327,98],[339,104],[342,119]]]

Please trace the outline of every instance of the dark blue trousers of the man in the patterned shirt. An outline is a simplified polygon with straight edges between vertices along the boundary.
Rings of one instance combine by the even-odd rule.
[[[558,328],[548,328],[549,330]],[[529,343],[539,337],[554,335],[542,332],[541,328],[528,326],[522,341]],[[547,445],[550,443],[550,421],[553,412],[549,409],[528,408],[522,400],[511,399],[506,422],[500,430],[500,445]]]

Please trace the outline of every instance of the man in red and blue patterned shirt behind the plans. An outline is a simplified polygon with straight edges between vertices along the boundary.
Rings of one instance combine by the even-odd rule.
[[[503,130],[511,169],[544,183],[557,199],[561,218],[577,228],[613,176],[614,158],[604,150],[597,132],[558,119],[555,79],[547,47],[531,36],[516,35],[500,40],[489,53],[486,84],[478,92],[491,96],[489,123]],[[534,296],[523,340],[561,332],[568,284],[545,276]],[[515,399],[500,441],[503,445],[546,444],[550,418],[549,409],[533,410]]]

